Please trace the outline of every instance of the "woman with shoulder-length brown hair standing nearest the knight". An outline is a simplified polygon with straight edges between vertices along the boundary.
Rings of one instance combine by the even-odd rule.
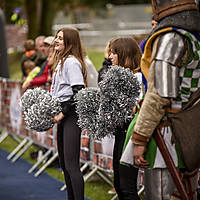
[[[137,42],[131,37],[117,37],[109,42],[107,53],[112,65],[129,68],[142,81],[140,71],[141,50]],[[142,96],[142,92],[140,98]],[[119,200],[139,200],[137,194],[138,168],[132,165],[120,164],[123,145],[126,139],[128,124],[118,128],[115,132],[113,149],[114,187]]]

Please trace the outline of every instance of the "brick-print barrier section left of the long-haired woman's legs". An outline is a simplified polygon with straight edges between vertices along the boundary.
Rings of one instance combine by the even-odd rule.
[[[0,78],[0,127],[3,129],[0,142],[6,139],[8,135],[12,135],[13,137],[18,136],[22,139],[19,145],[8,155],[7,159],[12,159],[11,161],[15,162],[32,144],[37,144],[48,149],[40,160],[29,170],[29,173],[31,173],[51,153],[55,157],[57,152],[56,127],[45,132],[36,132],[27,129],[19,106],[20,97],[21,82]]]

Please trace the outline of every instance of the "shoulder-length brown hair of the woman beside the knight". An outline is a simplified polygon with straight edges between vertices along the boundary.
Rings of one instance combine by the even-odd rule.
[[[133,73],[140,70],[141,50],[135,39],[131,37],[116,37],[109,43],[108,54],[118,55],[118,65],[130,68]]]

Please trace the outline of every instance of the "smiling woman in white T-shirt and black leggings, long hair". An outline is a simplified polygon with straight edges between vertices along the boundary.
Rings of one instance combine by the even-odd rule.
[[[87,85],[83,48],[79,32],[63,28],[55,37],[56,67],[51,94],[61,103],[62,111],[52,120],[57,125],[57,146],[64,172],[68,200],[84,199],[84,180],[80,171],[81,129],[77,125],[74,95]]]

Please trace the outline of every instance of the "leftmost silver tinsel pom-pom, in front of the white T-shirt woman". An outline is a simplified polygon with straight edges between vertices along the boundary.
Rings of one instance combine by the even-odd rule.
[[[52,118],[61,111],[56,97],[42,88],[28,89],[20,99],[28,128],[46,131],[53,127]]]

